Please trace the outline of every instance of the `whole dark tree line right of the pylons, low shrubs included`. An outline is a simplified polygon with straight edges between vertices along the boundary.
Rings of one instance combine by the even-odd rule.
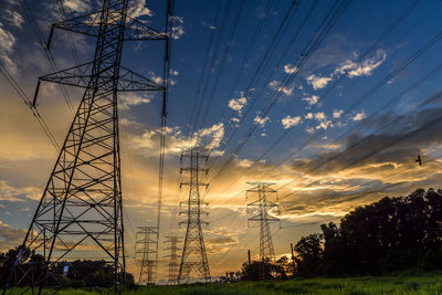
[[[322,232],[295,244],[293,261],[244,263],[222,281],[284,280],[382,275],[407,268],[442,270],[442,190],[415,190],[407,197],[385,197],[358,207],[339,225],[320,225]],[[262,275],[260,265],[264,264]],[[261,275],[260,275],[261,272]]]

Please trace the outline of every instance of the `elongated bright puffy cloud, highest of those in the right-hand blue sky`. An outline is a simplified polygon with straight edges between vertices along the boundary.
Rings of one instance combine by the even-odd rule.
[[[360,63],[347,60],[335,70],[335,74],[347,74],[350,78],[356,76],[369,76],[371,72],[379,67],[386,60],[387,53],[383,50],[378,50],[375,56]]]

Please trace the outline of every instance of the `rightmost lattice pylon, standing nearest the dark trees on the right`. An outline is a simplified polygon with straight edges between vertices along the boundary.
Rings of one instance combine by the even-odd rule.
[[[246,193],[246,198],[249,198],[249,193],[257,193],[257,200],[248,204],[248,214],[251,218],[248,219],[248,225],[250,221],[260,222],[260,261],[261,261],[261,270],[260,276],[264,278],[265,275],[265,261],[273,260],[275,257],[275,251],[273,249],[272,242],[272,233],[270,231],[270,222],[280,221],[280,219],[274,218],[269,214],[269,211],[277,208],[276,203],[269,201],[269,196],[272,193],[276,193],[275,190],[271,189],[270,186],[274,185],[271,182],[246,182],[253,188],[249,189]]]

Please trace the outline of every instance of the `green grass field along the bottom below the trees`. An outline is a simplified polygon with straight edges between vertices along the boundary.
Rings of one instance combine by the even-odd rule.
[[[62,295],[94,295],[95,292],[83,289],[64,289]],[[214,294],[441,294],[442,272],[421,273],[389,276],[365,276],[348,278],[298,278],[284,282],[240,282],[240,283],[212,283],[191,284],[180,286],[151,286],[128,291],[125,295],[214,295]]]

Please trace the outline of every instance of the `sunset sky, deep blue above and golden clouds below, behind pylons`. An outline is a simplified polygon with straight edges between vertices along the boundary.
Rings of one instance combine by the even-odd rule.
[[[175,0],[161,236],[185,235],[180,154],[207,147],[203,228],[213,277],[259,255],[248,224],[248,181],[273,182],[276,256],[290,243],[385,196],[440,188],[442,1]],[[48,61],[39,34],[99,1],[0,0],[0,63],[33,97],[39,76],[92,60],[94,40],[55,31]],[[165,3],[130,0],[129,14],[158,31]],[[341,13],[337,13],[341,12]],[[336,18],[335,18],[336,17]],[[35,32],[33,20],[39,30]],[[161,83],[164,43],[126,42],[122,64]],[[73,108],[82,93],[67,88]],[[156,222],[161,96],[124,93],[120,117],[128,268],[137,226]],[[43,83],[38,109],[62,144],[73,113]],[[0,76],[0,251],[21,243],[56,159],[29,107]],[[415,159],[421,155],[423,165]],[[181,208],[182,209],[182,208]],[[249,226],[248,226],[249,225]],[[167,277],[160,251],[158,278]]]

